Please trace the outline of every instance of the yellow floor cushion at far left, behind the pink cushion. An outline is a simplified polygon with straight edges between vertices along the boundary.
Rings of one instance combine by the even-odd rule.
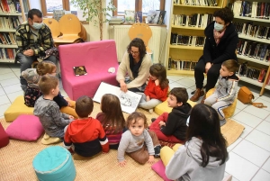
[[[33,114],[33,107],[24,104],[23,95],[18,96],[4,112],[6,122],[13,122],[21,114]]]

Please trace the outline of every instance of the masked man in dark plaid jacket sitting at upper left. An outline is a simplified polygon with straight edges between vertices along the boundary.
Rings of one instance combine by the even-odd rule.
[[[38,9],[31,9],[28,12],[27,21],[17,27],[15,36],[19,49],[16,59],[21,63],[21,73],[25,69],[31,68],[32,62],[40,55],[44,55],[46,50],[54,47],[49,27],[42,23],[42,13]],[[57,58],[53,55],[44,60],[57,63]],[[25,91],[27,81],[22,76],[20,81],[22,89]]]

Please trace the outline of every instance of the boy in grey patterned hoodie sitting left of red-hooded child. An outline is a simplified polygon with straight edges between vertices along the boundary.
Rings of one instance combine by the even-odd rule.
[[[58,78],[50,75],[40,77],[38,85],[43,95],[36,101],[33,113],[40,118],[40,122],[49,137],[63,139],[64,128],[74,117],[61,113],[58,104],[53,101],[53,98],[59,92]]]

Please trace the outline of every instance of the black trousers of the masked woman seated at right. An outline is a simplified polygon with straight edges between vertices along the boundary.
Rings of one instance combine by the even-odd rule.
[[[221,64],[222,63],[213,64],[211,68],[209,68],[207,72],[206,92],[216,85],[217,80],[220,77]],[[195,82],[196,82],[196,88],[202,89],[203,80],[204,80],[203,73],[205,72],[205,63],[203,59],[200,59],[198,61],[198,63],[196,64],[194,68],[194,71],[195,71],[194,77],[195,77]]]

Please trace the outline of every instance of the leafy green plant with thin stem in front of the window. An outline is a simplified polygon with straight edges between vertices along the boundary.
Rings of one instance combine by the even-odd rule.
[[[112,16],[109,12],[116,10],[112,0],[109,0],[106,6],[103,6],[103,3],[106,4],[106,0],[71,0],[71,4],[83,11],[84,17],[88,16],[87,22],[93,22],[94,26],[99,27],[101,41],[103,40],[103,23],[109,22],[107,16]]]

